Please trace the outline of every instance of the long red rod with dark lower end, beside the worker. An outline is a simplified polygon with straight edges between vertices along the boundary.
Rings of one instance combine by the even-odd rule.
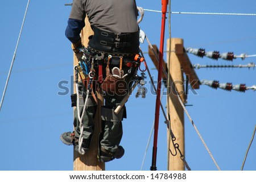
[[[162,84],[162,67],[163,67],[163,48],[164,48],[164,30],[166,27],[166,11],[168,0],[162,0],[162,26],[160,35],[159,64],[158,64],[158,86],[156,91],[155,105],[155,130],[154,130],[154,146],[152,154],[151,171],[156,171],[156,151],[158,146],[158,126],[159,126],[159,109],[160,109],[160,93]]]

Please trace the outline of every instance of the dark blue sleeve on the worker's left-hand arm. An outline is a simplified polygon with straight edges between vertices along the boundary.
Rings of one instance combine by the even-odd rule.
[[[85,23],[82,20],[68,19],[68,26],[65,30],[65,36],[72,43],[77,43],[80,39],[80,32],[84,28]]]

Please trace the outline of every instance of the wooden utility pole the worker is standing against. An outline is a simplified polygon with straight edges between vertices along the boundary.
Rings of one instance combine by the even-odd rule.
[[[93,31],[90,28],[90,23],[88,22],[88,19],[85,19],[85,27],[81,31],[81,37],[82,37],[82,44],[87,47],[89,39],[88,37],[90,35],[93,35]],[[77,57],[74,53],[74,66],[78,64]],[[74,78],[75,78],[75,72],[74,72]],[[74,81],[75,84],[75,81]],[[74,88],[76,86],[74,85]],[[76,92],[76,90],[75,90]],[[74,92],[74,93],[75,93]],[[101,93],[96,93],[97,100],[98,100],[98,107],[97,107],[97,113],[95,115],[94,119],[94,133],[92,137],[92,142],[90,144],[90,150],[86,152],[85,155],[80,155],[79,152],[76,152],[74,150],[74,156],[73,156],[73,170],[74,171],[104,171],[105,170],[105,163],[98,162],[97,160],[97,152],[98,152],[98,136],[101,131],[101,106],[103,104],[104,98]]]

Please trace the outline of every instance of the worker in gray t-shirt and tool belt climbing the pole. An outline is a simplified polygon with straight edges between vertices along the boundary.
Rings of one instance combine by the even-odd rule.
[[[65,35],[72,42],[72,49],[77,57],[81,57],[80,48],[83,47],[80,32],[85,26],[85,16],[88,16],[90,26],[94,31],[94,35],[89,38],[89,44],[86,47],[86,60],[89,69],[92,69],[92,65],[98,65],[90,70],[95,73],[93,79],[96,80],[96,84],[93,82],[92,91],[97,89],[105,91],[105,105],[101,107],[102,133],[98,160],[109,162],[115,158],[121,158],[125,153],[119,144],[122,139],[122,120],[126,118],[126,110],[123,107],[118,114],[115,114],[114,108],[127,93],[127,89],[131,86],[130,82],[137,73],[139,63],[134,61],[134,56],[139,53],[138,10],[135,0],[74,0]],[[114,88],[110,88],[107,78],[108,71],[106,73],[108,67],[110,75],[119,75],[122,84],[114,84]],[[126,85],[122,81],[125,81]],[[120,85],[121,88],[119,88]],[[80,94],[84,94],[84,100],[86,97],[84,90],[87,86],[85,83],[79,82]],[[83,107],[80,107],[79,109],[82,110]],[[96,101],[93,94],[90,94],[82,118],[84,130],[81,147],[85,152],[90,147],[96,109]],[[74,115],[75,130],[61,134],[60,139],[65,144],[75,145],[75,150],[79,151],[80,121],[77,107]]]

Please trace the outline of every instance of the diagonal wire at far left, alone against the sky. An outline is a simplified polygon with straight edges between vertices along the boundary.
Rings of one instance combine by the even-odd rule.
[[[14,64],[14,60],[15,60],[15,57],[16,57],[16,52],[17,52],[17,49],[18,49],[18,46],[19,46],[19,40],[20,40],[20,36],[22,34],[23,25],[24,25],[24,22],[25,22],[25,19],[26,19],[26,15],[27,15],[27,10],[28,10],[28,5],[29,4],[30,4],[30,0],[28,0],[28,2],[27,2],[26,11],[25,11],[25,14],[24,14],[22,26],[21,26],[20,32],[19,32],[18,41],[16,43],[16,48],[15,48],[14,55],[13,55],[13,60],[11,61],[11,67],[10,67],[10,70],[9,70],[9,73],[8,73],[8,76],[7,76],[7,80],[6,80],[6,84],[5,84],[5,89],[3,90],[3,96],[2,96],[1,103],[0,103],[0,110],[1,110],[2,105],[3,105],[3,99],[5,98],[5,93],[6,93],[7,85],[9,83],[9,79],[10,79],[10,76],[11,76],[11,70],[13,69],[13,64]]]

